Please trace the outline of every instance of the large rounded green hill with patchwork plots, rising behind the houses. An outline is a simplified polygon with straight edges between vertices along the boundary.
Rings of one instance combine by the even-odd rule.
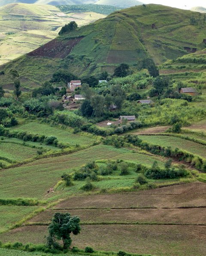
[[[68,33],[0,67],[16,68],[22,85],[39,86],[57,69],[77,75],[100,73],[124,62],[136,69],[145,58],[156,64],[204,49],[204,15],[161,5],[135,6]],[[0,85],[11,81],[0,76]]]

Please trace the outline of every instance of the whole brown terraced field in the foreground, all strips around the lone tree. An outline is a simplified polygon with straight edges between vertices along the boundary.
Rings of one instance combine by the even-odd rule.
[[[205,192],[206,184],[196,182],[139,191],[136,194],[70,197],[54,209],[46,210],[30,219],[30,225],[35,225],[1,234],[0,241],[45,242],[47,226],[37,224],[49,223],[53,213],[61,211],[80,216],[84,223],[81,225],[80,235],[72,236],[72,246],[91,246],[95,250],[109,248],[112,251],[124,250],[161,256],[202,256],[206,250],[206,198],[200,199],[202,205],[199,208],[194,202],[199,201],[198,196],[205,196]],[[151,206],[155,198],[158,209],[143,208],[143,205]],[[193,207],[171,208],[184,207],[185,201]],[[131,209],[133,205],[142,208]],[[70,210],[58,209],[63,206]],[[165,209],[166,206],[170,208]],[[87,209],[88,207],[93,209]]]

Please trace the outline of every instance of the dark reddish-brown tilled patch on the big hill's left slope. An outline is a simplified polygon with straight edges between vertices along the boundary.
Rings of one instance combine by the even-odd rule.
[[[83,37],[78,37],[65,41],[54,39],[44,46],[28,53],[28,55],[34,57],[65,58],[82,38]]]

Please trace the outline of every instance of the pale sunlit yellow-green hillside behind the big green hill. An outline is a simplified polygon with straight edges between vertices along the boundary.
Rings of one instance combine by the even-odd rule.
[[[18,3],[0,7],[0,64],[51,41],[71,20],[81,26],[105,16],[85,11],[65,14],[51,5]]]

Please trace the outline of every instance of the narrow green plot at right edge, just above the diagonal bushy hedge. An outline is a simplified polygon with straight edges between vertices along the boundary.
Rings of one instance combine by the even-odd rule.
[[[200,145],[193,141],[181,139],[178,137],[168,137],[159,135],[139,135],[139,138],[146,140],[149,143],[160,145],[160,146],[171,146],[172,149],[179,148],[191,152],[195,155],[206,157],[206,146]]]

